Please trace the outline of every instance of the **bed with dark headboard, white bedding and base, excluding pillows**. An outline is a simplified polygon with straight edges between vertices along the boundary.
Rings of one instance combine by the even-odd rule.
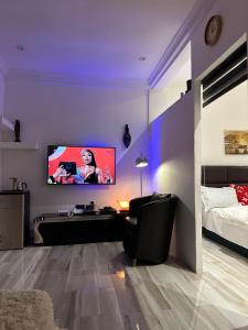
[[[202,186],[248,186],[248,166],[203,166]],[[224,188],[225,189],[225,188]],[[203,234],[248,256],[248,206],[217,207],[202,212]]]

